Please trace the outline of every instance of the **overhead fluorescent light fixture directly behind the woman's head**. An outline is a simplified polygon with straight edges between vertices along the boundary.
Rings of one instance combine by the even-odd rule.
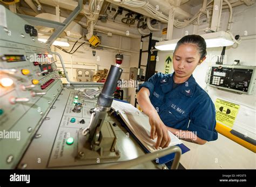
[[[200,36],[205,39],[207,48],[232,46],[234,44],[231,35],[225,31],[211,32]],[[160,41],[156,43],[155,47],[160,51],[173,51],[178,41],[179,39]]]

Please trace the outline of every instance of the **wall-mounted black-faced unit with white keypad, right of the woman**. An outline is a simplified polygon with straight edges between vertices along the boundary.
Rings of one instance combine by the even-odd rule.
[[[255,66],[212,66],[209,85],[238,93],[252,94],[255,87]]]

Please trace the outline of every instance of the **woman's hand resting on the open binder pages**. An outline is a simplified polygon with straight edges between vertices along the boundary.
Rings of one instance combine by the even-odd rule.
[[[167,127],[158,116],[158,113],[149,115],[149,122],[151,126],[150,138],[153,140],[157,138],[156,149],[168,147],[171,138]]]

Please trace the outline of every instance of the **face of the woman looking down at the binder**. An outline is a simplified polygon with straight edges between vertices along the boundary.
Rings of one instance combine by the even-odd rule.
[[[200,61],[195,44],[181,44],[173,54],[173,69],[177,77],[190,77]]]

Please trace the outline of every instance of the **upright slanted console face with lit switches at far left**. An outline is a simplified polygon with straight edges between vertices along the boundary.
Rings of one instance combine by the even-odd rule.
[[[63,88],[37,30],[0,5],[0,168],[13,168]]]

